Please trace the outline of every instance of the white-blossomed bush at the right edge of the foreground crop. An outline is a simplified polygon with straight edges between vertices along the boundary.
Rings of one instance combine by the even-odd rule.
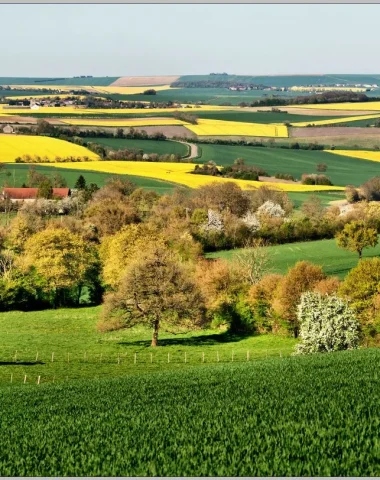
[[[335,295],[306,292],[298,306],[301,342],[296,354],[358,348],[359,323],[344,300]]]

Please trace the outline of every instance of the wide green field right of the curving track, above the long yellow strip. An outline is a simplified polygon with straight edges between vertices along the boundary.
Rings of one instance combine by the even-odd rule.
[[[244,158],[247,165],[264,168],[270,175],[290,173],[300,178],[303,173],[317,173],[318,163],[326,163],[326,174],[335,185],[361,185],[379,174],[376,162],[337,157],[318,150],[289,150],[264,147],[202,145],[201,161],[213,160],[218,165],[231,165],[236,158]]]

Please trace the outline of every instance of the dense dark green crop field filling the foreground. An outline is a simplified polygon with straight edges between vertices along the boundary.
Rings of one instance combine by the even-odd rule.
[[[2,476],[378,476],[380,352],[0,393]]]

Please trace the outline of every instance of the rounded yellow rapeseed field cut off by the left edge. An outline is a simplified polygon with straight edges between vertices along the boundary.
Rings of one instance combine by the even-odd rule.
[[[23,155],[31,157],[88,157],[99,160],[98,155],[87,148],[64,140],[50,137],[32,137],[29,135],[0,135],[0,162],[14,162]]]

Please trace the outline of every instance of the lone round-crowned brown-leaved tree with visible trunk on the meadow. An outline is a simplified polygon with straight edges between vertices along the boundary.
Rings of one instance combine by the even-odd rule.
[[[203,299],[188,270],[162,246],[147,249],[128,265],[115,293],[104,303],[104,328],[144,324],[153,329],[195,328],[203,322]]]

